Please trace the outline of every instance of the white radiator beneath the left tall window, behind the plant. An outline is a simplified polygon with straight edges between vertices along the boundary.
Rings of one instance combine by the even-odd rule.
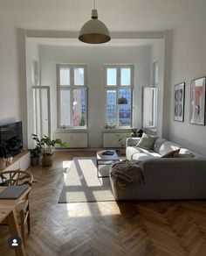
[[[88,146],[87,133],[54,132],[53,139],[68,142],[71,148],[84,148]]]

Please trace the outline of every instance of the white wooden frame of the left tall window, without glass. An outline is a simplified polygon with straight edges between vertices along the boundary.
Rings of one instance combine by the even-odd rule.
[[[70,68],[70,85],[60,85],[60,68]],[[84,68],[84,85],[74,85],[74,68]],[[74,126],[73,121],[73,90],[85,89],[86,91],[86,113],[85,113],[85,125]],[[70,92],[70,125],[61,125],[61,107],[60,107],[60,91],[68,90]],[[88,127],[88,88],[86,83],[86,64],[57,64],[57,128],[59,129],[87,129]]]

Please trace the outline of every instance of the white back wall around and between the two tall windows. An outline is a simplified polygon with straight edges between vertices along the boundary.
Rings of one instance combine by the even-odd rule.
[[[104,64],[134,64],[134,126],[141,127],[141,87],[150,82],[150,46],[40,46],[41,84],[50,85],[52,131],[57,127],[57,63],[87,65],[89,147],[102,146]]]

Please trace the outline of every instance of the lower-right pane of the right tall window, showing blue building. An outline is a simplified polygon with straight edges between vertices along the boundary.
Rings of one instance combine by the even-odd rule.
[[[131,126],[132,121],[132,93],[131,89],[120,89],[119,98],[124,97],[127,99],[126,104],[118,104],[119,108],[119,126]]]

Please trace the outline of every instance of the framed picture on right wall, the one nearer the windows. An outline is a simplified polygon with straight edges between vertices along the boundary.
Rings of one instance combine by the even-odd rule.
[[[184,122],[184,90],[185,82],[175,85],[174,88],[174,120]]]

